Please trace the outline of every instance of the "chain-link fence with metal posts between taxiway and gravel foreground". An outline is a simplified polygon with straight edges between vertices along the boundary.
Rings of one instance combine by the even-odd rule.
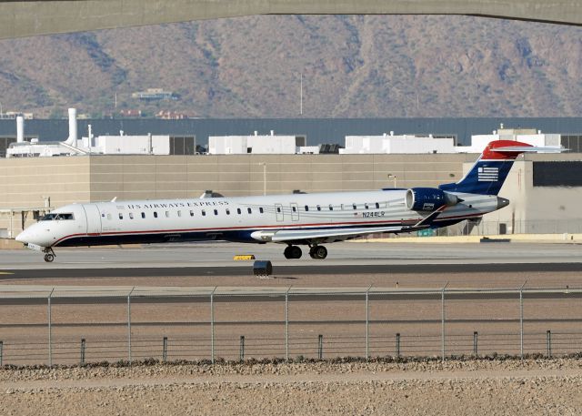
[[[37,311],[46,308],[46,321],[11,322],[7,314],[0,313],[0,365],[145,359],[559,356],[582,351],[580,299],[582,289],[527,289],[525,283],[517,289],[5,286],[0,289],[0,312],[18,306]],[[103,305],[104,309],[111,305],[119,313],[115,320],[84,323],[59,310],[55,320],[55,308],[84,309],[88,305]],[[194,305],[196,314],[191,320],[142,318],[159,305],[176,315]],[[274,305],[280,316],[232,319],[256,309],[255,305]],[[290,310],[292,305],[296,307]],[[331,308],[331,318],[319,315],[322,305]],[[336,313],[346,307],[350,314]],[[406,307],[410,310],[404,313]],[[125,322],[118,316],[124,309]],[[120,331],[123,327],[125,335]]]

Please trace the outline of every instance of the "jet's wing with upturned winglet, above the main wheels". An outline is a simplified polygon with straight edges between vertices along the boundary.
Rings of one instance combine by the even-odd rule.
[[[366,234],[375,233],[398,233],[411,232],[419,229],[429,228],[432,222],[437,218],[446,207],[438,208],[411,226],[386,226],[386,227],[359,227],[359,228],[326,228],[326,229],[279,229],[268,231],[255,231],[252,237],[259,241],[273,242],[293,242],[301,240],[321,240],[334,241],[344,240],[347,238],[356,238]]]

